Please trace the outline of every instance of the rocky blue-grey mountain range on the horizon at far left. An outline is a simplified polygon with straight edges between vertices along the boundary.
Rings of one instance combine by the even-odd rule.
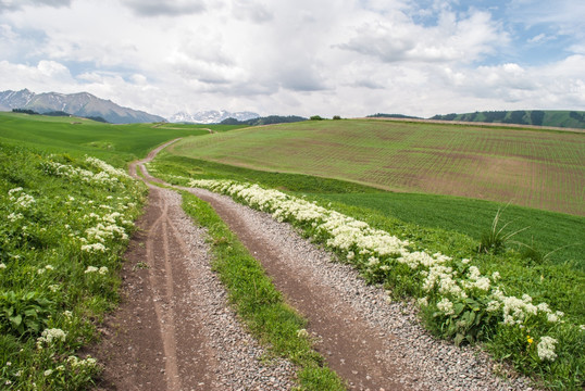
[[[33,110],[37,113],[65,112],[82,117],[102,117],[112,124],[163,122],[163,117],[142,111],[123,108],[110,100],[97,98],[88,92],[35,93],[28,89],[0,92],[0,111],[12,109]]]

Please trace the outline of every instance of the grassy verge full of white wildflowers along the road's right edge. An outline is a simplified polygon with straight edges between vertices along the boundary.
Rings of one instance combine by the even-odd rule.
[[[189,182],[187,178],[183,180]],[[372,232],[363,223],[340,219],[306,200],[229,180],[201,180],[194,185],[274,213],[275,218],[277,215],[278,219],[294,224],[307,237],[329,248],[341,262],[352,264],[366,282],[383,283],[397,298],[422,300],[421,316],[438,337],[452,339],[457,344],[483,341],[496,358],[512,362],[540,386],[570,390],[583,387],[583,274],[580,277],[578,273],[560,270],[569,273],[538,276],[542,270],[526,269],[516,252],[477,252],[477,247],[464,236],[382,222],[386,225],[384,230],[408,240],[399,244],[410,253],[407,256],[394,245],[390,250],[381,244],[381,234]],[[351,215],[351,210],[344,211],[343,206],[329,205],[329,211],[331,207]],[[369,218],[354,217],[361,222]],[[372,226],[381,228],[379,224],[369,224]],[[363,239],[353,239],[359,237]],[[451,257],[443,258],[435,254],[437,251]],[[470,254],[475,257],[470,258]],[[438,258],[430,262],[434,257]],[[555,267],[547,270],[552,273]],[[458,293],[462,290],[465,294]],[[562,302],[563,298],[569,300]],[[559,308],[568,312],[556,312]],[[548,348],[543,348],[544,343]]]

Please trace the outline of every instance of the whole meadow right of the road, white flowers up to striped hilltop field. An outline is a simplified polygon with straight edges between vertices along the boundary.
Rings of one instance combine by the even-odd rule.
[[[557,167],[560,177],[571,177],[582,185],[583,135],[545,131],[536,137],[535,130],[468,126],[453,129],[439,126],[438,130],[433,128],[434,135],[428,135],[431,130],[419,124],[399,124],[398,130],[376,130],[377,126],[363,121],[307,122],[209,135],[175,144],[150,168],[169,181],[227,193],[272,213],[275,218],[297,225],[308,237],[336,252],[341,262],[353,264],[366,281],[383,283],[395,298],[418,299],[421,318],[437,336],[453,339],[456,343],[483,341],[495,357],[511,362],[519,370],[539,379],[540,386],[580,389],[585,348],[582,187],[573,189],[576,195],[570,203],[578,212],[570,215],[519,206],[514,204],[516,199],[512,203],[502,198],[499,203],[478,200],[478,193],[474,193],[474,198],[462,198],[388,192],[366,186],[365,180],[354,180],[354,173],[365,169],[357,167],[360,164],[356,156],[363,157],[366,151],[372,152],[370,161],[364,159],[366,168],[375,165],[374,162],[382,166],[391,161],[401,164],[406,173],[411,168],[416,172],[421,164],[426,164],[428,176],[461,172],[461,165],[447,167],[449,160],[439,167],[430,167],[433,164],[424,162],[430,154],[450,151],[457,144],[462,154],[469,155],[469,161],[481,160],[482,156],[474,154],[484,152],[489,152],[494,160],[536,161]],[[462,135],[470,128],[471,135]],[[381,135],[390,137],[395,133],[398,146],[394,141],[387,144],[381,141]],[[484,136],[481,143],[477,143],[478,135]],[[393,160],[400,156],[398,149],[413,149],[414,143],[418,148],[423,146],[424,151],[419,154],[407,151],[404,153],[412,159]],[[498,152],[498,148],[502,152]],[[535,153],[536,157],[530,156],[531,148],[540,151]],[[316,156],[318,150],[321,159]],[[555,159],[547,161],[545,155]],[[540,176],[551,175],[551,169],[544,169]],[[563,169],[569,174],[562,173]],[[311,175],[315,173],[320,176]],[[516,191],[522,176],[527,174],[516,173],[516,181],[512,182],[501,179],[500,188]],[[470,180],[464,177],[458,186]],[[369,185],[376,184],[370,181]],[[544,195],[533,195],[537,197]],[[567,210],[564,205],[556,205],[556,209]],[[500,220],[494,229],[491,225],[498,211]],[[344,225],[334,224],[337,228],[333,231],[321,228],[329,225],[335,213],[346,216],[339,217],[346,226],[351,227],[350,219],[357,219],[357,227],[366,224],[409,244],[390,251],[361,248],[359,240],[351,241],[340,234],[347,228],[341,228]],[[499,229],[503,229],[502,236],[521,231],[502,240],[499,247],[482,248],[483,238]],[[363,239],[362,242],[371,240],[375,241]],[[402,263],[408,263],[404,261],[408,257],[397,255],[402,251],[425,253],[427,255],[421,256],[426,261],[419,260],[404,267]],[[445,254],[448,260],[441,261],[444,258],[437,254]],[[443,281],[437,282],[433,288],[437,290],[432,289],[431,295],[430,276],[435,276],[435,282]],[[465,291],[463,297],[458,295],[460,291],[455,286],[462,287],[459,289]],[[453,291],[449,293],[445,287]],[[496,304],[498,302],[502,306]],[[499,306],[499,311],[503,308],[503,313],[494,313],[495,306]],[[546,350],[547,346],[552,350]]]

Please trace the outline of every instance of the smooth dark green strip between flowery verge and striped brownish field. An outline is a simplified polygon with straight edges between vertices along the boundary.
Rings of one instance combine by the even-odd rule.
[[[502,220],[512,222],[510,229],[530,227],[513,239],[534,247],[543,255],[555,251],[547,257],[551,264],[568,264],[585,272],[585,217],[459,197],[395,193],[338,179],[254,171],[169,153],[161,154],[157,162],[160,172],[171,175],[258,182],[306,194],[325,204],[332,201],[356,206],[364,215],[382,219],[398,218],[421,227],[457,231],[476,241],[491,225],[498,209],[506,207]]]

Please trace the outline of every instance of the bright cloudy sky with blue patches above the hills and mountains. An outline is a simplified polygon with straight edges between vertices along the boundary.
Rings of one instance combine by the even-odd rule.
[[[0,0],[0,91],[169,117],[585,110],[583,0]]]

